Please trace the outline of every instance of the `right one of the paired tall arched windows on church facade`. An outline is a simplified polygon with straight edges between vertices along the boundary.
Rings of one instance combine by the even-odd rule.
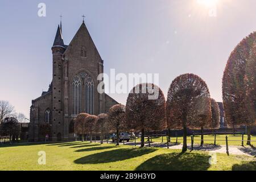
[[[85,82],[85,112],[94,114],[94,83],[92,77],[88,77]]]

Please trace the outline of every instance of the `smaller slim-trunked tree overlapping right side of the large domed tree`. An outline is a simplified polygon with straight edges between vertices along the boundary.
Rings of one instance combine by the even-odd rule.
[[[192,107],[188,111],[188,127],[190,129],[201,129],[201,146],[204,144],[204,129],[210,129],[212,111],[210,109],[210,98],[197,97],[192,101]]]

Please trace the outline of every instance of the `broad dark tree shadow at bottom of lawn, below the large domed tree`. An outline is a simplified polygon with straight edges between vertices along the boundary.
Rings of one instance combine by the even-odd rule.
[[[210,156],[185,152],[156,155],[136,168],[138,171],[205,171]]]

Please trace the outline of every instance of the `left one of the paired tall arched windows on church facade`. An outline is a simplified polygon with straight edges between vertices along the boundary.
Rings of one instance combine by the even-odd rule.
[[[78,76],[72,82],[72,114],[81,113],[81,81]]]

